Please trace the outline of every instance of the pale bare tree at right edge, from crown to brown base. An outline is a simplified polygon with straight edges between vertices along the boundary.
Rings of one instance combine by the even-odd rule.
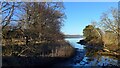
[[[114,38],[105,38],[106,40],[108,40],[110,43],[110,41],[112,40],[112,43],[114,43],[114,45],[119,45],[119,39],[120,39],[120,27],[119,27],[119,11],[117,8],[111,8],[111,10],[109,10],[109,12],[107,13],[103,13],[103,15],[101,16],[101,26],[103,28],[103,30],[106,32],[109,32],[109,34],[111,34]],[[107,33],[106,33],[107,34]],[[108,35],[109,36],[109,35]],[[104,40],[104,41],[106,41]]]

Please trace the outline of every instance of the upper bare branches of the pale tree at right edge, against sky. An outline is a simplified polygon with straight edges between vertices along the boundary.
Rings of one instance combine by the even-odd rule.
[[[101,16],[101,25],[104,30],[113,31],[116,34],[120,34],[118,27],[119,19],[118,19],[118,9],[112,8],[110,12],[103,13]]]

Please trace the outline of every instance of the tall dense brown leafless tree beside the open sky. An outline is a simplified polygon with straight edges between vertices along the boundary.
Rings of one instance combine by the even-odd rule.
[[[24,3],[27,29],[39,34],[41,40],[61,38],[60,28],[64,20],[62,3]]]

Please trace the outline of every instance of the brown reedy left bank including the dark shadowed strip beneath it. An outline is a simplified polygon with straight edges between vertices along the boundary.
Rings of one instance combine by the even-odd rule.
[[[2,46],[3,67],[51,66],[64,62],[75,54],[75,49],[66,41],[34,45]]]

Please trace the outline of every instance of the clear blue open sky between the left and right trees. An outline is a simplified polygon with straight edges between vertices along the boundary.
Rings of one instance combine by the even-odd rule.
[[[118,7],[118,2],[64,2],[67,19],[61,31],[64,34],[81,34],[91,21],[99,21],[103,12]]]

